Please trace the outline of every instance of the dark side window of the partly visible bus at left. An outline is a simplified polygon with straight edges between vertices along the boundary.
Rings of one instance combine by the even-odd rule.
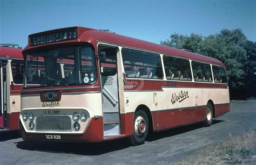
[[[15,84],[23,84],[24,62],[23,60],[11,61],[12,79]]]

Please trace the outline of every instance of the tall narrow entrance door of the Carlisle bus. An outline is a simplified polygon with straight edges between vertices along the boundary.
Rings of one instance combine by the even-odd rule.
[[[99,46],[104,137],[120,134],[117,48]]]

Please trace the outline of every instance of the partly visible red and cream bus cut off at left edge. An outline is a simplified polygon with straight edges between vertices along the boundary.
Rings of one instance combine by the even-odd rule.
[[[24,60],[22,49],[0,44],[0,134],[19,130]]]

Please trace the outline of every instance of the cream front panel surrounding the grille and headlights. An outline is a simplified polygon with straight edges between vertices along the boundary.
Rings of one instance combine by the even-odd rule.
[[[95,115],[102,116],[102,97],[100,92],[98,93],[88,93],[88,94],[69,94],[62,95],[62,99],[60,102],[52,102],[57,103],[58,106],[48,107],[45,104],[50,104],[51,102],[41,102],[39,95],[31,95],[31,96],[22,96],[22,111],[20,114],[20,119],[22,121],[22,125],[25,128],[26,132],[30,133],[58,133],[58,134],[82,134],[86,131],[87,126],[89,125],[91,118]],[[50,104],[54,105],[54,104]],[[72,120],[72,115],[75,112],[81,114],[82,112],[87,111],[89,113],[90,118],[83,122],[81,120],[78,121],[80,124],[80,130],[75,131],[36,131],[30,130],[29,123],[30,121],[23,121],[22,116],[26,112],[30,114],[31,112],[35,114],[35,120],[33,121],[36,126],[36,119],[38,116],[58,116],[65,115],[71,118],[72,126],[75,121]]]

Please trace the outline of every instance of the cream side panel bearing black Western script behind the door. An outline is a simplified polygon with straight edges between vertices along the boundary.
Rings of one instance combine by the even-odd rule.
[[[125,105],[125,113],[134,112],[140,104],[148,106],[151,111],[158,111],[202,106],[206,105],[210,99],[214,104],[230,103],[228,89],[167,87],[163,90],[124,92],[125,103],[127,99],[129,101],[129,104]]]

